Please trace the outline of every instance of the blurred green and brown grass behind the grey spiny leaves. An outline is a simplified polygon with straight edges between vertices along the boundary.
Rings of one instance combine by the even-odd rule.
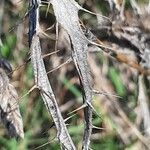
[[[148,4],[143,0],[138,2],[141,5]],[[90,11],[110,16],[109,3],[106,0],[79,0],[79,3]],[[130,13],[129,0],[126,1],[125,7]],[[59,37],[57,43],[55,42],[56,20],[52,7],[47,8],[46,1],[42,1],[40,21],[41,29],[45,32],[41,35],[42,53],[44,55],[56,49],[60,50],[44,58],[46,69],[50,71],[69,58],[71,47],[62,28],[59,28]],[[49,118],[39,91],[35,89],[24,96],[34,85],[32,66],[28,61],[30,50],[27,12],[28,1],[1,0],[0,2],[0,56],[12,64],[11,81],[20,97],[19,104],[25,131],[25,138],[16,141],[8,136],[1,125],[0,149],[57,150],[60,147],[55,139],[56,130],[55,127],[51,127],[53,121]],[[79,17],[87,28],[97,29],[96,16],[79,12]],[[93,97],[93,106],[100,114],[100,118],[93,115],[93,124],[98,128],[93,129],[91,149],[141,150],[145,142],[145,133],[138,102],[138,71],[116,61],[102,51],[90,53],[89,62],[95,89],[107,93]],[[71,111],[82,105],[77,71],[73,63],[69,63],[49,73],[48,76],[63,117],[67,118]],[[146,90],[150,93],[150,89]],[[81,149],[83,111],[79,110],[74,114],[75,116],[66,123],[77,148]]]

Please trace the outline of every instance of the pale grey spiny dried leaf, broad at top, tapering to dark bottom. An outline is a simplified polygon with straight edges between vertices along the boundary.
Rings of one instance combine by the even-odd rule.
[[[78,11],[82,9],[76,1],[51,0],[57,22],[67,31],[73,46],[72,58],[78,71],[83,87],[83,103],[88,106],[92,101],[91,75],[87,62],[88,40],[80,27]],[[83,9],[82,9],[83,10]],[[92,132],[92,108],[84,108],[85,129],[82,149],[87,150],[90,146]]]

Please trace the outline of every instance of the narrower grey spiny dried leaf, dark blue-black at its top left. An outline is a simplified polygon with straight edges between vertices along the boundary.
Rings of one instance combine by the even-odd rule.
[[[34,7],[36,4],[38,4],[37,8]],[[57,129],[57,138],[61,144],[61,148],[63,147],[63,149],[75,150],[76,148],[68,133],[64,119],[58,107],[55,95],[52,91],[51,84],[49,83],[44,62],[43,62],[43,57],[41,54],[41,45],[38,36],[40,30],[39,17],[38,17],[39,5],[40,5],[40,0],[32,1],[32,6],[33,6],[32,8],[33,9],[36,8],[36,9],[30,13],[33,13],[31,14],[31,16],[34,15],[36,18],[34,19],[29,18],[30,26],[34,26],[34,24],[36,25],[35,28],[33,28],[35,34],[32,36],[31,47],[30,47],[31,61],[32,61],[33,71],[35,76],[35,84],[39,88],[44,104],[46,105],[48,112],[51,114],[54,120]]]

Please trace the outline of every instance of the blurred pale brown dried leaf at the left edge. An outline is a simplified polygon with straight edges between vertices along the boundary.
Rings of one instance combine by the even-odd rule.
[[[2,68],[0,68],[0,121],[11,137],[24,137],[18,94],[14,86],[9,83],[9,78]]]

